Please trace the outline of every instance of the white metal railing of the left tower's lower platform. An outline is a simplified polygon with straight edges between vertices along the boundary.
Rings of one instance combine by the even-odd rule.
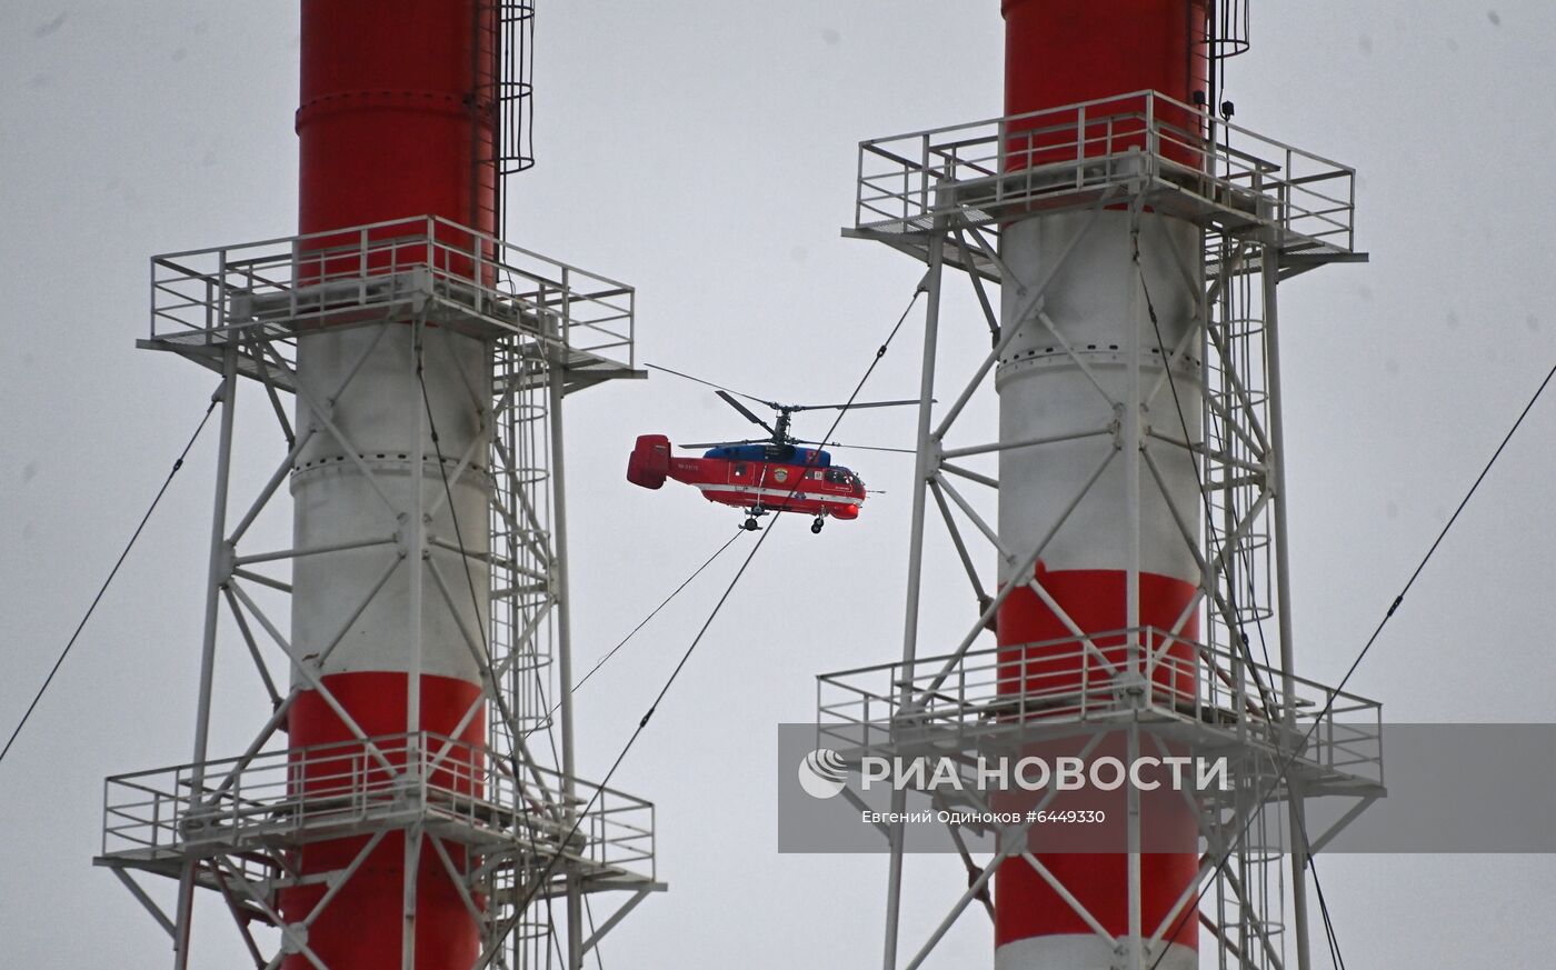
[[[555,771],[524,765],[515,777],[510,762],[482,745],[431,732],[380,735],[110,777],[103,855],[156,860],[297,844],[419,818],[493,850],[515,844],[654,877],[650,802],[579,782],[577,801],[559,807],[560,790]]]

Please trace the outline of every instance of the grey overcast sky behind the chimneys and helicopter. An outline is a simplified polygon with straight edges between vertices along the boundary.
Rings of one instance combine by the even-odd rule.
[[[294,232],[296,8],[0,11],[5,734],[215,386],[134,350],[148,255]],[[996,115],[1001,37],[994,0],[541,0],[540,162],[510,183],[512,239],[636,284],[640,359],[764,396],[846,395],[921,274],[839,238],[856,143]],[[1254,0],[1253,42],[1231,68],[1237,120],[1354,165],[1372,253],[1282,286],[1299,670],[1335,682],[1556,359],[1556,5]],[[987,347],[955,292],[946,373]],[[870,393],[915,393],[918,336],[915,317]],[[576,650],[591,665],[734,525],[686,490],[629,487],[633,437],[741,426],[663,376],[591,390],[568,415]],[[991,426],[991,403],[972,418]],[[904,445],[910,417],[862,412],[839,434]],[[1556,400],[1357,672],[1352,689],[1391,720],[1550,720],[1553,434]],[[240,413],[240,441],[257,443],[240,488],[263,479],[274,437],[258,409]],[[3,965],[168,965],[162,931],[90,858],[103,777],[190,752],[213,443],[0,765]],[[910,466],[853,465],[887,494],[856,524],[773,536],[616,777],[658,804],[671,892],[607,939],[608,967],[879,959],[884,858],[775,852],[775,724],[812,715],[815,673],[898,651]],[[280,546],[285,521],[269,527]],[[580,692],[584,774],[630,734],[734,563],[720,566]],[[968,622],[958,583],[932,546],[930,640]],[[243,658],[227,661],[212,751],[237,754],[266,704]],[[1556,948],[1550,857],[1337,857],[1319,872],[1352,967],[1533,967]],[[906,939],[962,886],[952,860],[912,858]],[[201,905],[198,965],[243,964],[218,905]],[[991,959],[971,914],[934,965]]]

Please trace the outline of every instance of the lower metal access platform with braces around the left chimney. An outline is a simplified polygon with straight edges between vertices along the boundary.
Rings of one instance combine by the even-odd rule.
[[[650,802],[587,782],[574,782],[565,802],[562,790],[552,769],[429,732],[179,765],[107,779],[93,861],[170,931],[131,872],[171,880],[187,872],[240,920],[297,933],[275,906],[280,889],[325,877],[338,886],[406,827],[431,843],[431,864],[461,888],[484,937],[501,939],[531,902],[565,897],[569,880],[577,892],[629,892],[621,916],[664,888],[655,878]],[[297,846],[350,838],[363,849],[342,872],[305,877],[289,867]]]

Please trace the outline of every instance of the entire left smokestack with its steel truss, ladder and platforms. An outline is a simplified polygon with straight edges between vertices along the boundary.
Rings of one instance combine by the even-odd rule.
[[[201,692],[190,765],[109,779],[100,863],[177,880],[174,970],[198,889],[286,970],[579,970],[585,894],[604,931],[663,889],[652,805],[574,765],[562,401],[641,372],[630,286],[501,236],[532,16],[303,0],[299,233],[152,260],[145,345],[226,376]],[[230,515],[240,384],[288,451]],[[291,547],[249,550],[288,482]],[[224,609],[274,714],[213,760]]]

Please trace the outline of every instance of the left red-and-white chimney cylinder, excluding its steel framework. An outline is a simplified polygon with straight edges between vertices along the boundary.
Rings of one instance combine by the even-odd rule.
[[[493,232],[495,112],[482,104],[495,92],[487,75],[495,64],[489,45],[496,30],[484,22],[493,17],[496,5],[490,0],[303,0],[297,109],[302,233],[415,216]],[[468,233],[439,225],[434,235],[471,252]],[[355,244],[355,235],[349,236],[339,242]],[[308,272],[310,252],[331,242],[324,236],[305,244],[300,275]],[[415,255],[425,261],[425,247]],[[372,269],[394,272],[389,252],[373,258],[383,266]],[[447,269],[470,274],[468,266]],[[487,449],[479,441],[489,434],[481,413],[492,400],[490,348],[436,326],[423,330],[420,353],[414,340],[409,323],[327,328],[297,340],[303,390],[299,427],[333,421],[358,454],[342,454],[333,434],[316,434],[297,455],[291,479],[296,546],[328,549],[391,535],[397,541],[296,563],[293,642],[300,654],[330,644],[342,619],[352,617],[359,603],[367,606],[350,622],[322,672],[345,717],[319,692],[305,690],[288,720],[294,749],[350,741],[349,721],[369,737],[426,731],[485,741],[484,710],[473,709],[481,693],[479,665],[459,625],[485,628],[489,574],[467,560],[473,570],[473,589],[467,591],[467,563],[456,552],[429,547],[422,524],[403,515],[397,519],[394,508],[429,510],[425,533],[450,541],[457,516],[467,550],[485,552],[492,485],[484,468]],[[316,413],[310,401],[328,413]],[[450,462],[476,455],[473,468],[450,482],[453,502],[445,501],[442,476],[453,476],[454,468],[437,466],[433,426],[437,449]],[[420,502],[415,490],[422,490]],[[437,566],[454,584],[456,608],[439,594],[429,570],[411,569],[417,558]],[[387,757],[394,762],[406,755],[401,749]],[[461,749],[450,757],[470,763],[479,755]],[[303,765],[294,783],[327,787],[327,776],[338,766]],[[305,844],[297,849],[299,871],[307,878],[344,869],[366,841],[356,836]],[[475,962],[479,931],[459,888],[431,847],[414,869],[406,849],[400,833],[384,838],[310,926],[308,947],[333,970],[405,965],[406,934],[415,939],[411,965],[417,970],[468,970]],[[285,889],[283,916],[289,922],[303,919],[327,889],[325,883]],[[411,894],[414,925],[405,916]],[[286,970],[311,965],[297,954],[283,962]]]

